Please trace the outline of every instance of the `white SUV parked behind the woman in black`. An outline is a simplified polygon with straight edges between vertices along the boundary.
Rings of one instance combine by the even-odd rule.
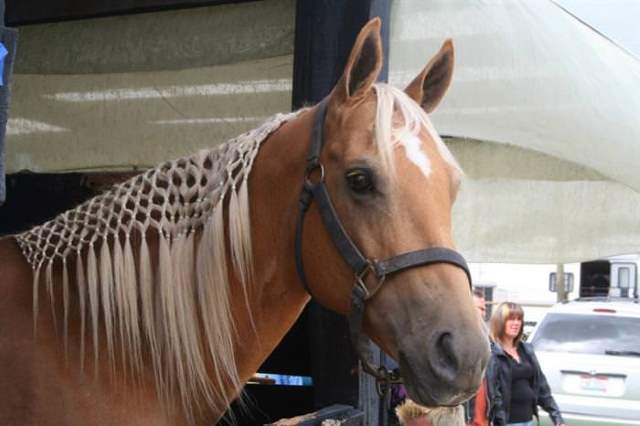
[[[555,305],[529,341],[567,426],[640,426],[637,300],[588,298]],[[549,424],[546,417],[541,424]]]

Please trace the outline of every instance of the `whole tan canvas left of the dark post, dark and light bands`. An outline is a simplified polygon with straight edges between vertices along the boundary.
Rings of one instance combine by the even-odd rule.
[[[266,0],[21,28],[7,173],[145,169],[289,110],[294,18]]]

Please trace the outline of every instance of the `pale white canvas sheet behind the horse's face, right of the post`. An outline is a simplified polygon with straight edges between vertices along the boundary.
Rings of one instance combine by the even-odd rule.
[[[640,252],[636,58],[551,1],[399,0],[391,15],[396,84],[455,45],[433,122],[471,170],[454,209],[471,261]]]

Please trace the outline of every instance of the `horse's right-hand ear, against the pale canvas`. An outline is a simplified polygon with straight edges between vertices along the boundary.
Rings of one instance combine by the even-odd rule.
[[[430,113],[440,103],[453,75],[453,42],[447,39],[420,74],[404,89],[414,101]]]

